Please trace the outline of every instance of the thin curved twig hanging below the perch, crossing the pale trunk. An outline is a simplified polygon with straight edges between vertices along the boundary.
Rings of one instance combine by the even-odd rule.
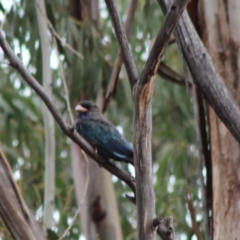
[[[84,187],[84,191],[83,191],[83,196],[82,196],[82,199],[81,199],[81,201],[79,203],[79,207],[78,207],[75,215],[73,216],[73,219],[72,219],[71,223],[69,224],[69,226],[64,231],[63,235],[58,240],[62,240],[67,235],[69,230],[72,228],[72,226],[73,226],[73,224],[74,224],[78,214],[80,213],[81,207],[82,207],[83,202],[85,200],[85,197],[87,195],[87,190],[88,190],[88,186],[89,186],[89,161],[88,161],[88,157],[86,156],[84,151],[82,151],[82,154],[83,154],[84,160],[85,160],[85,162],[87,164],[86,165],[86,173],[87,173],[86,175],[87,175],[87,177],[86,177],[86,183],[85,183],[85,187]]]

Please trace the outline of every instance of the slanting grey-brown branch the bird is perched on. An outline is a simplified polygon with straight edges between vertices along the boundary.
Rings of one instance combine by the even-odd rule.
[[[49,111],[52,113],[54,119],[56,120],[62,131],[74,142],[76,142],[97,163],[99,163],[113,175],[117,176],[119,179],[125,182],[135,194],[135,183],[133,182],[132,176],[120,170],[114,164],[102,159],[98,154],[94,152],[93,148],[82,137],[80,137],[80,135],[75,131],[73,126],[70,126],[69,124],[64,122],[61,114],[54,107],[42,86],[27,71],[27,69],[23,66],[21,60],[14,54],[13,50],[10,48],[9,44],[3,37],[2,32],[0,32],[0,46],[2,47],[6,56],[8,57],[10,65],[18,71],[18,73],[22,76],[23,80],[26,83],[28,83],[31,86],[31,88],[37,93],[37,95],[39,95],[39,97],[44,101],[44,103],[46,104]]]

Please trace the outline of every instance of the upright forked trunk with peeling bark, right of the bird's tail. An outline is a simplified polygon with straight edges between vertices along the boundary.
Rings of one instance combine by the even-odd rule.
[[[152,93],[163,51],[188,0],[175,0],[168,12],[150,52],[140,80],[133,88],[134,165],[136,171],[136,199],[138,239],[155,239],[152,221],[155,199],[152,184]]]

